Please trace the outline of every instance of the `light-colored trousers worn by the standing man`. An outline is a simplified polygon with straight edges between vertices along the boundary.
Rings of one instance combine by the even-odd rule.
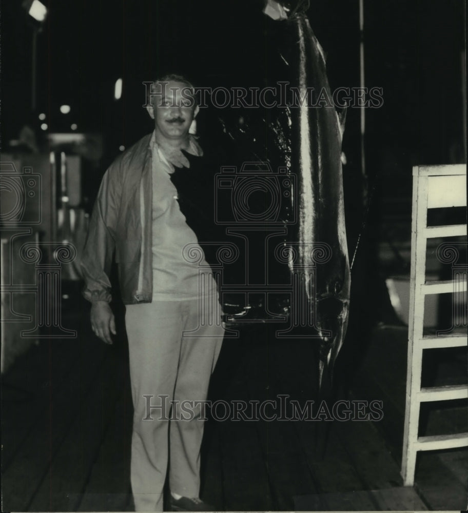
[[[125,320],[134,407],[130,478],[135,510],[162,511],[168,467],[172,492],[199,496],[204,422],[200,406],[187,407],[192,404],[187,401],[195,406],[206,400],[224,328],[219,321],[199,327],[198,299],[127,305]],[[197,327],[196,337],[183,336]]]

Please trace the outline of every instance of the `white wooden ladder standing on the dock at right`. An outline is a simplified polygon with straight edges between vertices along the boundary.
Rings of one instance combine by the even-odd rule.
[[[408,322],[408,360],[406,409],[401,475],[405,486],[413,486],[418,451],[448,449],[468,445],[468,433],[418,436],[420,405],[424,401],[468,398],[467,385],[421,388],[424,349],[466,346],[466,314],[461,330],[423,335],[424,297],[426,294],[455,292],[466,301],[466,268],[456,279],[426,282],[427,239],[466,235],[466,223],[427,226],[427,209],[466,207],[466,165],[415,166],[413,168],[413,221],[411,235],[410,320]],[[466,307],[466,303],[464,303]],[[463,324],[463,323],[462,323]],[[461,332],[460,332],[461,331]]]

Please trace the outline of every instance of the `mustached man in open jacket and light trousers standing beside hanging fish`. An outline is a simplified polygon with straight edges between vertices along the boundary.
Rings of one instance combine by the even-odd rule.
[[[111,344],[109,269],[115,250],[130,354],[135,509],[163,509],[169,467],[171,509],[210,510],[199,499],[201,404],[224,328],[218,320],[200,322],[201,300],[214,296],[207,304],[219,312],[216,283],[205,272],[201,292],[199,270],[207,264],[171,181],[175,168],[190,167],[187,154],[203,154],[189,133],[199,108],[193,87],[178,75],[154,82],[150,92],[152,134],[113,162],[97,196],[82,264],[84,295],[92,303],[94,333]],[[193,248],[200,250],[200,262],[187,258]],[[183,401],[193,405],[189,415],[181,411]]]

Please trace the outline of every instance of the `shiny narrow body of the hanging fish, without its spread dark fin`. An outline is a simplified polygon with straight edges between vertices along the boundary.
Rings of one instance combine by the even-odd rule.
[[[283,22],[290,25],[297,48],[290,65],[291,76],[301,97],[307,88],[332,93],[327,80],[325,58],[304,13]],[[325,102],[326,103],[326,102]],[[299,262],[314,265],[310,245],[324,244],[329,255],[317,266],[313,298],[315,327],[318,329],[320,382],[325,367],[330,376],[343,344],[349,310],[350,270],[344,219],[341,166],[341,120],[333,105],[291,108],[291,168],[298,182]]]

